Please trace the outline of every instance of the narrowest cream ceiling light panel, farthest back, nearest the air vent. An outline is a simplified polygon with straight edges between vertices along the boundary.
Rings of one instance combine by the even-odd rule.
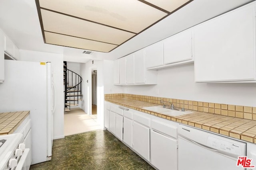
[[[90,49],[93,51],[102,51],[102,52],[109,52],[113,48],[117,47],[117,45],[102,43],[98,41],[91,41],[88,39],[82,39],[77,37],[70,37],[67,35],[61,35],[57,33],[50,33],[44,31],[44,36],[46,39],[46,43],[54,44],[54,45],[61,45],[66,47],[74,47],[80,49]]]

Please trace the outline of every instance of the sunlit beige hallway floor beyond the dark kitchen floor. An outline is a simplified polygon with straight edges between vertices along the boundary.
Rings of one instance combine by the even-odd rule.
[[[64,112],[65,136],[99,129],[101,127],[97,123],[97,114],[88,115],[80,108],[72,108],[70,111]]]

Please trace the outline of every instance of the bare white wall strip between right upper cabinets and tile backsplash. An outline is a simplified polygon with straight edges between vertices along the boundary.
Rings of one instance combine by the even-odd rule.
[[[129,94],[256,107],[256,83],[195,83],[194,64],[158,70],[157,85],[122,88]]]

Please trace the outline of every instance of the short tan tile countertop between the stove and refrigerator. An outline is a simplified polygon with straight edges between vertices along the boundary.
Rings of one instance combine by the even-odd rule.
[[[30,111],[14,111],[0,113],[0,135],[14,133]]]

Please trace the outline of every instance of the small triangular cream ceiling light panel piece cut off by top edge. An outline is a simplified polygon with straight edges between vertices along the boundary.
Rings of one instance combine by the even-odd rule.
[[[180,6],[192,0],[145,0],[145,1],[149,2],[150,4],[154,4],[155,6],[158,6],[168,12],[173,12]]]

